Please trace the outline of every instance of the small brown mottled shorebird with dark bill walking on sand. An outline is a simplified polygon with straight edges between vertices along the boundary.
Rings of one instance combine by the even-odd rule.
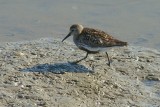
[[[69,34],[62,40],[62,42],[69,36],[73,35],[73,41],[76,46],[87,52],[86,56],[80,60],[75,61],[78,63],[88,57],[88,54],[95,54],[104,51],[108,58],[108,65],[110,66],[110,59],[107,53],[109,47],[126,46],[127,42],[120,41],[113,38],[104,31],[85,28],[80,24],[74,24],[70,27]]]

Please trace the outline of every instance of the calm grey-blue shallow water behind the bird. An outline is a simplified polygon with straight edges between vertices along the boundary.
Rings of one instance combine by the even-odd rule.
[[[1,0],[0,42],[63,38],[73,23],[160,49],[159,0]],[[71,39],[71,38],[70,38]]]

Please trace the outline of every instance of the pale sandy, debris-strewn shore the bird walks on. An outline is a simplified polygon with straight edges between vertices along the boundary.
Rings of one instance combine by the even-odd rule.
[[[158,107],[160,52],[143,47],[85,55],[69,42],[44,38],[0,46],[0,106]]]

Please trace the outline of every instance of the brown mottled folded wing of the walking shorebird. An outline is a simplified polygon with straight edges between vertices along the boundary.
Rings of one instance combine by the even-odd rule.
[[[123,46],[126,44],[126,42],[114,39],[104,31],[91,28],[84,28],[79,38],[84,44],[91,47]]]

